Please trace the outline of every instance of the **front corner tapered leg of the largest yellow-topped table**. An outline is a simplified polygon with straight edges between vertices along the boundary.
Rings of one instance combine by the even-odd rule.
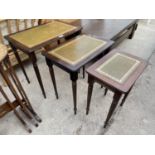
[[[37,58],[36,58],[35,52],[30,53],[29,57],[30,57],[30,59],[32,61],[33,68],[34,68],[35,74],[37,76],[37,79],[38,79],[40,88],[42,90],[43,96],[44,96],[44,98],[46,98],[46,93],[45,93],[45,90],[44,90],[41,75],[40,75],[39,68],[38,68],[38,65],[37,65]]]

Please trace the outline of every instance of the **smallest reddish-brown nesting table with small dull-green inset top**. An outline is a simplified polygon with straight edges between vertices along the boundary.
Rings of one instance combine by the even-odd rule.
[[[124,104],[134,83],[142,74],[147,63],[130,54],[113,50],[98,62],[87,69],[88,73],[88,96],[86,114],[89,113],[90,101],[92,96],[94,82],[105,86],[107,90],[114,92],[113,101],[111,103],[104,127],[107,126],[121,96],[121,106]]]

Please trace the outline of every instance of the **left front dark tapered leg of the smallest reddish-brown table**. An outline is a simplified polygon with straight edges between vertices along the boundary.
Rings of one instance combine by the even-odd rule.
[[[94,86],[94,79],[88,75],[88,94],[87,94],[87,108],[86,108],[86,115],[89,113],[91,96]]]

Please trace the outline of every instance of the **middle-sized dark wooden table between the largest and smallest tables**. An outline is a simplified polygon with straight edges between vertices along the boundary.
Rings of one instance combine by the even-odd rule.
[[[72,81],[74,114],[77,111],[77,79],[80,68],[88,62],[110,50],[113,41],[99,40],[87,35],[80,35],[60,47],[43,53],[51,74],[56,97],[58,98],[53,64],[70,74]]]

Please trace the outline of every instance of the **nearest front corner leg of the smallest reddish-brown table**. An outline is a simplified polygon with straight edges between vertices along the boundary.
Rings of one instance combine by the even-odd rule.
[[[107,124],[108,124],[108,122],[109,122],[109,120],[110,120],[110,118],[111,118],[111,116],[112,116],[112,114],[113,114],[113,112],[114,112],[114,110],[115,110],[115,108],[116,108],[120,98],[121,98],[121,95],[122,94],[120,92],[115,92],[114,93],[113,101],[111,103],[111,106],[110,106],[110,109],[109,109],[106,121],[104,123],[104,128],[106,128],[106,126],[107,126]]]

